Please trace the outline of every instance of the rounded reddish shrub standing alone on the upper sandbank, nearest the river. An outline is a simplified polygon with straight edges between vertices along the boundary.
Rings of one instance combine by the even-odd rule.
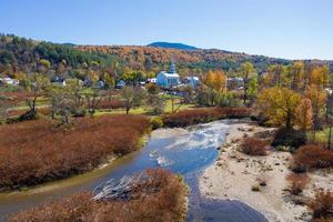
[[[243,153],[249,155],[268,154],[268,142],[255,138],[244,138],[240,148]]]

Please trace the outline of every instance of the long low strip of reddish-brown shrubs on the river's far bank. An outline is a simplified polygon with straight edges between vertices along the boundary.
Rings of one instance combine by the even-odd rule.
[[[183,110],[163,117],[167,127],[188,127],[202,122],[210,122],[219,119],[246,118],[250,115],[248,108],[208,108],[195,110]]]

